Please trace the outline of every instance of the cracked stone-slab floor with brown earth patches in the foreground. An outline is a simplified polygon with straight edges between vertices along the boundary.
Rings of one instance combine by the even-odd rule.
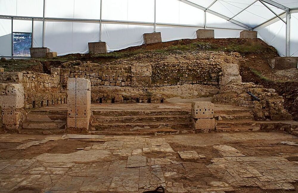
[[[0,192],[298,191],[298,138],[283,133],[0,137]]]

